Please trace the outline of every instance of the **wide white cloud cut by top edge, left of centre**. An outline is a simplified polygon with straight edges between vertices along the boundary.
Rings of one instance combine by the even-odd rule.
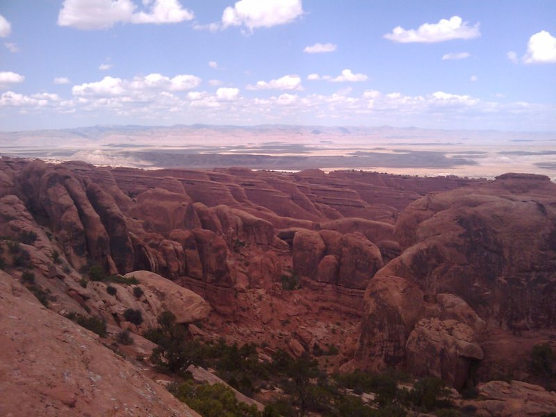
[[[117,23],[179,23],[194,17],[178,0],[143,0],[142,4],[146,11],[136,11],[132,0],[65,0],[58,13],[58,25],[94,30]]]

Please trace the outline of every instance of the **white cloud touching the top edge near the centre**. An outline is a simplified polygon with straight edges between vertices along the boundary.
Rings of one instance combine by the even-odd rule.
[[[222,28],[246,26],[254,28],[291,23],[303,14],[301,0],[240,0],[222,13]]]

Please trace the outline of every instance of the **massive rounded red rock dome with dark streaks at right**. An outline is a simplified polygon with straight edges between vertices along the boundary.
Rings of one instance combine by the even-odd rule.
[[[532,345],[556,336],[555,224],[556,184],[528,174],[410,204],[395,225],[404,251],[366,290],[356,363],[457,388],[527,377]]]

